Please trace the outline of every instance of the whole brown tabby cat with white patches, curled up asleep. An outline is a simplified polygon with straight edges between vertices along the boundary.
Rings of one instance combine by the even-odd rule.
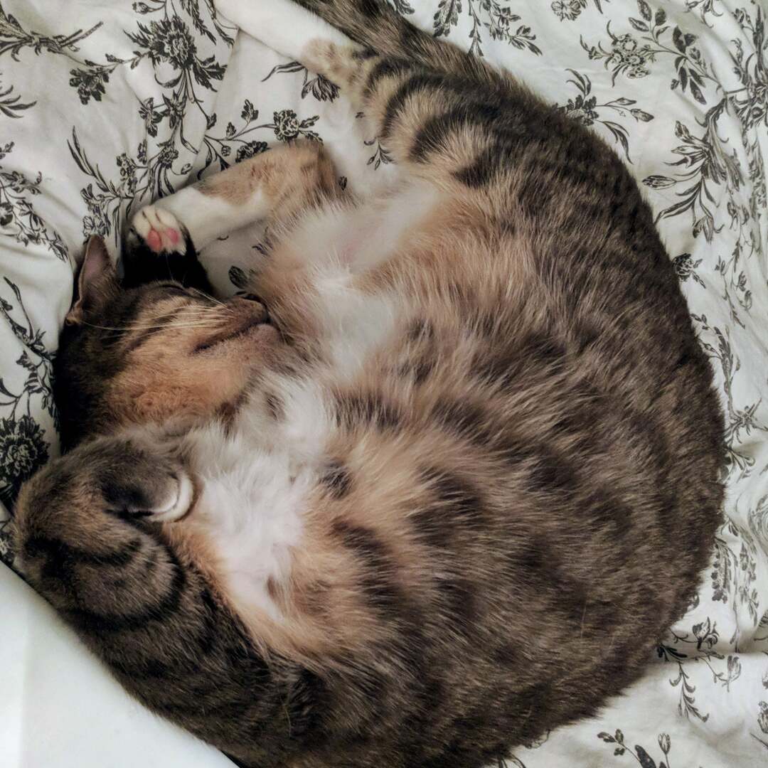
[[[639,677],[707,564],[723,420],[606,144],[383,2],[301,4],[217,5],[399,180],[355,199],[294,144],[144,208],[122,284],[91,240],[20,561],[240,763],[475,768]],[[253,220],[260,300],[215,300],[194,250]]]

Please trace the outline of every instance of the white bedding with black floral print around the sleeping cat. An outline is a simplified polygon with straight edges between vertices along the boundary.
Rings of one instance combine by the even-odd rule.
[[[726,412],[726,514],[689,611],[627,694],[506,766],[768,764],[764,0],[391,2],[614,144],[657,213]],[[300,137],[323,141],[355,188],[397,169],[333,84],[237,35],[210,0],[2,0],[0,113],[0,558],[12,567],[18,487],[58,450],[51,360],[84,239],[104,235],[117,257],[142,204]],[[259,237],[233,233],[202,254],[220,290],[243,286]],[[6,614],[32,599],[10,583]],[[3,680],[40,652],[18,634],[4,642],[10,631]],[[34,681],[15,679],[0,689],[5,743],[31,739]],[[136,763],[123,752],[108,764]]]

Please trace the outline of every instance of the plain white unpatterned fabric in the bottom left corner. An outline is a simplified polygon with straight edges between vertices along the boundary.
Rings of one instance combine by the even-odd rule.
[[[3,768],[232,768],[129,699],[53,609],[0,565]]]

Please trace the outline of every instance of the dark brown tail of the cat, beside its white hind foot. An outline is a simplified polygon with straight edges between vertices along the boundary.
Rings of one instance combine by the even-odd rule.
[[[449,41],[433,38],[392,8],[386,0],[294,0],[343,31],[347,37],[386,58],[503,86],[511,75],[485,64]]]

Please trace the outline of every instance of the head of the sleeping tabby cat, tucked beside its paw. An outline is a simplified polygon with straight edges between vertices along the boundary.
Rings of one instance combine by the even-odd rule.
[[[62,446],[226,411],[279,338],[266,321],[258,302],[223,303],[174,280],[124,288],[92,237],[54,364]]]

